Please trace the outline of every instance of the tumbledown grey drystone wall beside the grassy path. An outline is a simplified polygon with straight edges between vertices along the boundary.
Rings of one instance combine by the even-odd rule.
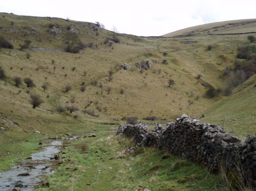
[[[207,165],[213,172],[220,167],[242,172],[246,181],[256,186],[256,137],[247,136],[246,141],[241,142],[220,126],[202,123],[186,114],[174,122],[167,122],[166,130],[161,124],[152,132],[148,132],[146,124],[121,124],[117,134],[133,137],[136,147],[157,147]]]

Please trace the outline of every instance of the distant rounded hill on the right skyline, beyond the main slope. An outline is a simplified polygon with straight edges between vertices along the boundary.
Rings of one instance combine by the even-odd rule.
[[[242,19],[202,24],[184,28],[163,35],[164,37],[195,35],[195,34],[227,34],[256,32],[256,19]]]

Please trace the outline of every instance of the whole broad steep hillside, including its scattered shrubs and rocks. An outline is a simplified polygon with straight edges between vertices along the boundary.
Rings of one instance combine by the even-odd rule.
[[[40,120],[198,116],[225,96],[231,72],[240,71],[234,65],[244,67],[235,61],[240,49],[253,47],[248,35],[150,38],[101,23],[6,13],[0,23],[0,118],[19,124],[9,132],[30,133],[31,126],[49,132]]]

